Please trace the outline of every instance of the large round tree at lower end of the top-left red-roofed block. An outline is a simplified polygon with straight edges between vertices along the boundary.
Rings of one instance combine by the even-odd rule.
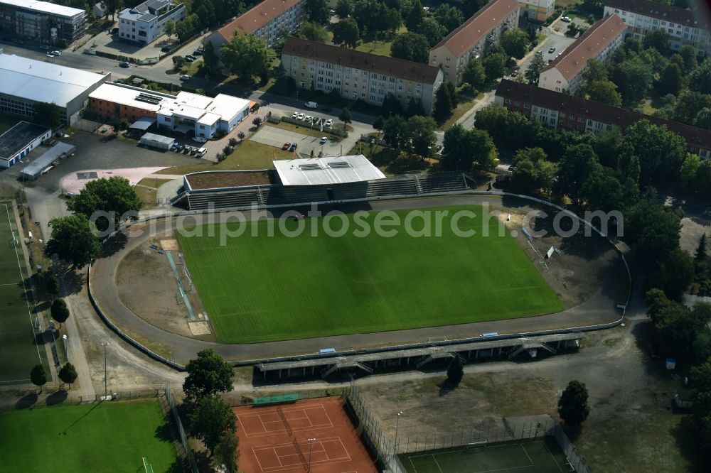
[[[267,43],[245,32],[235,35],[220,47],[220,60],[227,69],[240,77],[264,75],[269,69]]]

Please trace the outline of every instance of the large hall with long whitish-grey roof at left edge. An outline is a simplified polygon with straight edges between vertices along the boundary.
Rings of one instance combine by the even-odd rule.
[[[0,112],[33,118],[34,104],[56,104],[62,122],[72,125],[89,94],[109,77],[0,53]]]

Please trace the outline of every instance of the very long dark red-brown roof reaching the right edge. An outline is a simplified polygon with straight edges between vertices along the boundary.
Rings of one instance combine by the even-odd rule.
[[[631,110],[619,109],[611,105],[592,102],[574,95],[562,94],[533,85],[522,84],[502,79],[496,89],[496,95],[521,103],[533,104],[549,110],[557,110],[565,114],[584,116],[586,119],[600,121],[604,124],[619,126],[621,129],[639,120],[647,120],[657,126],[666,126],[686,140],[690,146],[711,149],[711,131],[695,126],[661,119],[657,116],[640,114]]]

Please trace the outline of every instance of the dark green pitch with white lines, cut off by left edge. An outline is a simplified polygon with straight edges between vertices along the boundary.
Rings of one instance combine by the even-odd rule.
[[[25,298],[27,268],[19,238],[12,202],[0,202],[0,385],[29,384],[38,363],[48,369],[46,351],[35,343],[35,315]]]

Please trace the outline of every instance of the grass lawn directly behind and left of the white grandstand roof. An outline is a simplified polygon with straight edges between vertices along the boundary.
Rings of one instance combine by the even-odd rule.
[[[225,158],[222,163],[201,163],[175,166],[160,170],[156,174],[187,174],[197,173],[203,170],[245,170],[245,169],[271,169],[274,167],[274,153],[277,159],[287,159],[292,157],[292,153],[282,151],[281,148],[257,143],[245,139],[235,147],[235,151]]]

